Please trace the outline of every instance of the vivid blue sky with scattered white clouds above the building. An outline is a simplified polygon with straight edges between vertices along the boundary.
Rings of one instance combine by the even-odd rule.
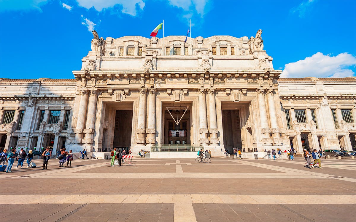
[[[0,0],[0,77],[73,78],[99,37],[262,39],[282,77],[355,76],[356,1]],[[160,31],[157,37],[162,37]]]

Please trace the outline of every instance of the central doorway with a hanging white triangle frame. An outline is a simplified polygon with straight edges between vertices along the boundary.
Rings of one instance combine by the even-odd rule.
[[[164,103],[164,144],[190,144],[192,103]]]

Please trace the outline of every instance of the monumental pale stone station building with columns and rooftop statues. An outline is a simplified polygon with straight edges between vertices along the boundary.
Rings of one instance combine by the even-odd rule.
[[[356,77],[279,78],[261,33],[184,43],[94,31],[75,79],[0,79],[0,147],[352,150]]]

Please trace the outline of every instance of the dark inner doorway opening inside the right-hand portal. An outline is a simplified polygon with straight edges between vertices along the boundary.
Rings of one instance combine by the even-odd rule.
[[[221,110],[224,132],[224,147],[229,153],[242,148],[240,110]]]

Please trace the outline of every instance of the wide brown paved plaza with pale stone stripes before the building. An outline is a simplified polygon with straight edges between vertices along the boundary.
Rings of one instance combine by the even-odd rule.
[[[356,161],[74,160],[0,173],[5,221],[356,221]],[[66,166],[66,164],[64,164]]]

